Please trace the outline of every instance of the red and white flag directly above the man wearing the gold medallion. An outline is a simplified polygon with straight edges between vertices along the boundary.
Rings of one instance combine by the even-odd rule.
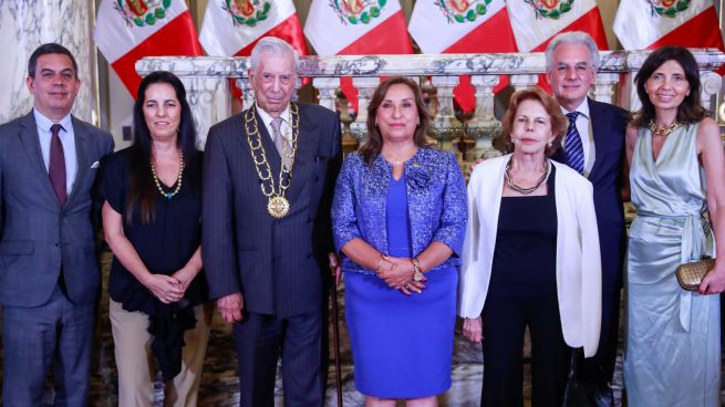
[[[263,36],[287,41],[307,55],[302,25],[291,0],[210,0],[199,41],[214,56],[246,56]]]

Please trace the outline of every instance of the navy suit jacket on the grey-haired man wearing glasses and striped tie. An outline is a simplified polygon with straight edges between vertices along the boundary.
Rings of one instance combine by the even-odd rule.
[[[588,179],[594,186],[594,210],[602,258],[602,292],[607,294],[622,286],[624,210],[620,188],[622,164],[625,159],[626,111],[608,103],[587,100],[595,149],[594,166]],[[567,161],[563,148],[551,158],[560,163]]]

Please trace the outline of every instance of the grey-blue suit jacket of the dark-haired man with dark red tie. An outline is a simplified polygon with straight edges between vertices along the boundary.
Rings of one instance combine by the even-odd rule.
[[[77,174],[65,206],[51,186],[33,113],[0,126],[0,302],[38,306],[53,293],[61,264],[69,299],[95,301],[101,282],[92,189],[113,137],[75,117]]]

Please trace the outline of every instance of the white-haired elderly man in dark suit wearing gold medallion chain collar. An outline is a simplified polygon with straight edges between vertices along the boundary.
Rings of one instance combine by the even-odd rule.
[[[341,133],[333,112],[290,102],[297,65],[288,43],[261,39],[255,105],[211,127],[206,144],[201,253],[209,295],[234,323],[241,406],[273,406],[280,354],[284,405],[323,405]]]

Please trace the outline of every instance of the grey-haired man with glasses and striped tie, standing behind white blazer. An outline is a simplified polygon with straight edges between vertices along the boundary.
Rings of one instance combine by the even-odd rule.
[[[546,50],[547,77],[561,111],[569,117],[567,136],[553,159],[579,170],[594,187],[594,209],[602,259],[602,326],[591,371],[601,366],[611,380],[617,359],[620,292],[624,259],[621,189],[626,111],[587,97],[599,67],[597,44],[587,33],[567,32]]]

